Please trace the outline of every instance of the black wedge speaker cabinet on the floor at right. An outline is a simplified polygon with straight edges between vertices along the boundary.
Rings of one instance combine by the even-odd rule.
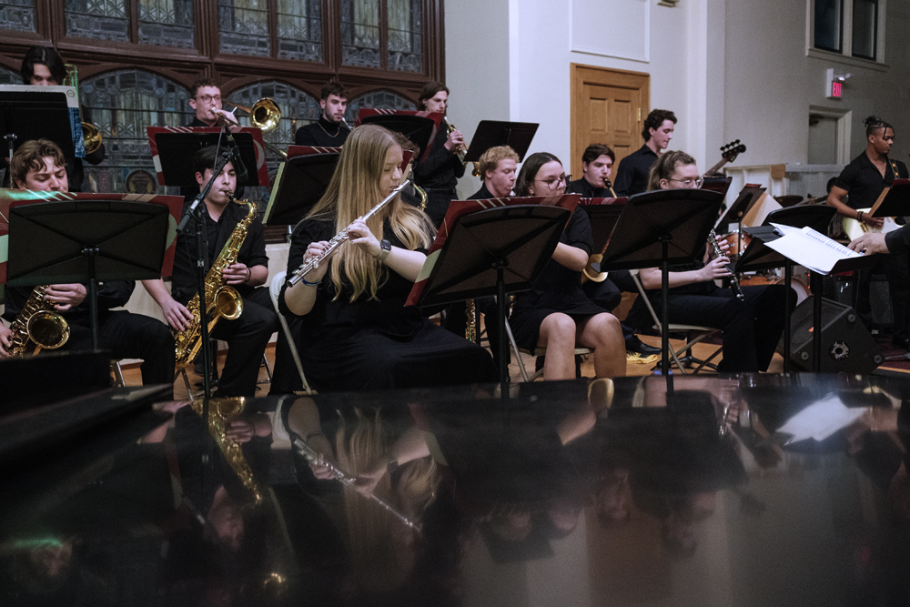
[[[812,307],[807,298],[791,318],[790,361],[798,370],[812,370]],[[778,351],[784,354],[784,341]],[[850,306],[822,298],[822,372],[869,373],[882,364],[882,353]]]

